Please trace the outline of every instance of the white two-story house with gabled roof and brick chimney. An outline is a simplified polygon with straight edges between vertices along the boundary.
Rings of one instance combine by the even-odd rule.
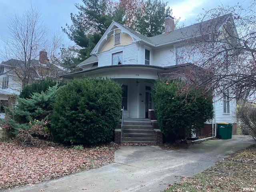
[[[202,26],[214,23],[222,30],[222,26],[230,21],[232,15],[228,14],[174,30],[174,18],[166,16],[165,33],[153,37],[112,22],[92,50],[92,56],[78,65],[83,70],[62,77],[114,78],[123,85],[124,117],[148,118],[148,110],[154,109],[153,81],[163,74],[186,70],[202,58],[200,52],[188,55],[184,51],[191,48],[191,44],[186,44],[189,39],[200,36]],[[236,129],[236,101],[220,98],[214,98],[214,120],[207,124],[211,129],[217,122],[228,122]]]

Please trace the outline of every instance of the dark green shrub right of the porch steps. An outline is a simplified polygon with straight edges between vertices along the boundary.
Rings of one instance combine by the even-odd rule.
[[[204,122],[213,118],[212,95],[191,86],[184,91],[180,80],[157,80],[154,83],[154,108],[160,130],[168,140],[190,136]]]

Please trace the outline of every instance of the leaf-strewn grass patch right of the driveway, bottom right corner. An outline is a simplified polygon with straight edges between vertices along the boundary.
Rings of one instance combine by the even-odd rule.
[[[240,192],[244,188],[256,191],[256,144],[164,192]]]

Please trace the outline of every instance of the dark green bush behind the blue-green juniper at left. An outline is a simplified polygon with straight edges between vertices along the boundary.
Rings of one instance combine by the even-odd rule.
[[[20,98],[30,98],[33,93],[45,92],[49,87],[52,87],[58,83],[58,86],[64,85],[63,82],[56,82],[51,79],[40,80],[31,85],[24,86],[22,92],[20,93]]]

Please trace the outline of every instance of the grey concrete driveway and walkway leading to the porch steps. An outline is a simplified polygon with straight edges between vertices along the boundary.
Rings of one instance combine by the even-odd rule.
[[[115,162],[35,186],[11,192],[160,192],[182,176],[193,176],[228,154],[254,144],[250,136],[229,140],[209,140],[188,150],[166,151],[158,146],[122,146]]]

